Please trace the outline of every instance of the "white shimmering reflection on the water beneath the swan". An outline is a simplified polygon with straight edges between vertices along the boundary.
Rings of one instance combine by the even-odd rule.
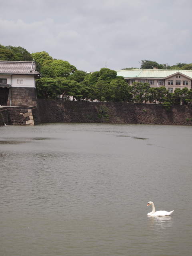
[[[157,226],[159,228],[168,228],[172,226],[172,217],[170,216],[148,216],[150,226]]]

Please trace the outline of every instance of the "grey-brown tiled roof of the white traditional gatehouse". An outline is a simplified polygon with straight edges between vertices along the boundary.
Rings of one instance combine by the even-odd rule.
[[[40,75],[35,69],[36,63],[32,61],[0,60],[0,74]]]

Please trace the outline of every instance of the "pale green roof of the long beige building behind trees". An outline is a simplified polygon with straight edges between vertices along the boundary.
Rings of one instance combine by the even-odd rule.
[[[118,76],[124,78],[142,77],[142,78],[165,78],[178,72],[192,78],[192,70],[167,70],[167,69],[128,69],[116,70]]]

